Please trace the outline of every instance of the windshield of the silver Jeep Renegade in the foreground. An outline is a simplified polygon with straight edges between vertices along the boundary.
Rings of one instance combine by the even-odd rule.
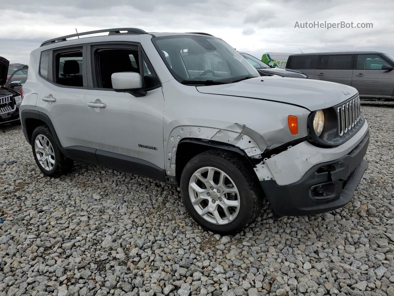
[[[259,77],[239,52],[209,36],[152,38],[171,74],[183,84],[221,84]]]

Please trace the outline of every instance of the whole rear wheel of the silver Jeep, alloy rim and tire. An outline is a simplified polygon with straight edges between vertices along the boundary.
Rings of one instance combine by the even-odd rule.
[[[32,150],[41,172],[58,177],[72,169],[73,161],[61,154],[47,126],[36,127],[32,135]]]

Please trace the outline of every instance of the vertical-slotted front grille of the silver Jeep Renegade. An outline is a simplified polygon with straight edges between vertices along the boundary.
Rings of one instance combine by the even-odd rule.
[[[354,97],[343,103],[337,109],[338,133],[342,137],[361,119],[360,96]]]

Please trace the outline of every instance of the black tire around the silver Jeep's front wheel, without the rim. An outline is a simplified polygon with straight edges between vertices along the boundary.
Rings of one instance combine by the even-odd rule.
[[[201,217],[193,207],[189,195],[189,181],[194,172],[204,167],[215,167],[225,172],[236,184],[240,197],[238,215],[224,225],[210,223]],[[219,234],[236,234],[260,214],[262,189],[258,184],[251,165],[239,154],[224,150],[209,150],[193,157],[184,167],[180,177],[180,191],[186,210],[202,227]]]

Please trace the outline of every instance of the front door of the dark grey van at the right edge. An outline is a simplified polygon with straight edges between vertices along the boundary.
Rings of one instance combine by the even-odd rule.
[[[357,54],[351,86],[361,97],[391,98],[394,90],[394,71],[382,70],[392,64],[380,54]]]

